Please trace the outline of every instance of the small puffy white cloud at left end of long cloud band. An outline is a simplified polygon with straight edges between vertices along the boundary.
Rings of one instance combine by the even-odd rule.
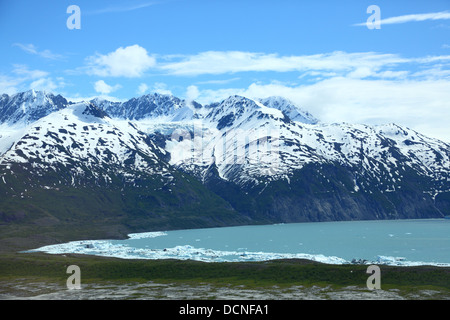
[[[87,58],[87,73],[102,77],[141,77],[156,63],[154,57],[139,45],[120,47],[106,55],[97,54]]]

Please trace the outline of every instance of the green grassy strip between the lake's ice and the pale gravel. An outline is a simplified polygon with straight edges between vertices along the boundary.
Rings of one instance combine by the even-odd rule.
[[[21,250],[37,248],[44,244],[69,241],[61,239],[50,230],[30,234],[30,230],[0,233],[0,283],[44,282],[65,287],[69,265],[81,270],[84,284],[115,283],[177,283],[196,286],[234,286],[264,290],[273,288],[330,287],[336,290],[357,287],[368,290],[367,265],[328,265],[308,260],[273,260],[265,262],[206,263],[180,260],[124,260],[88,255],[50,255],[45,253],[20,253]],[[44,232],[45,231],[45,232]],[[70,234],[70,232],[68,232]],[[45,236],[44,236],[45,234]],[[72,234],[73,239],[80,239]],[[71,236],[71,238],[72,238]],[[117,235],[119,237],[119,235]],[[84,239],[93,239],[87,237]],[[432,290],[438,292],[433,299],[450,299],[450,268],[420,266],[380,266],[381,289],[395,289],[402,295]],[[5,289],[3,294],[5,295]],[[7,294],[8,290],[6,290]]]

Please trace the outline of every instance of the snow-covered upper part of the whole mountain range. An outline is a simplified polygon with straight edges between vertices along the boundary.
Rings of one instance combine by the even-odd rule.
[[[150,163],[156,164],[156,154],[161,154],[202,181],[214,167],[222,179],[241,186],[289,181],[308,164],[325,163],[359,168],[355,181],[362,175],[386,175],[391,186],[407,168],[441,181],[442,188],[450,175],[450,147],[442,141],[394,124],[320,123],[281,97],[231,96],[206,106],[156,93],[126,102],[94,99],[72,106],[54,100],[34,91],[13,99],[2,96],[9,111],[2,112],[1,163],[134,163],[137,171],[157,174],[163,168]],[[40,103],[45,112],[35,113]],[[83,114],[86,109],[95,116]],[[47,113],[28,127],[28,120],[14,122]],[[149,134],[161,136],[159,147]]]

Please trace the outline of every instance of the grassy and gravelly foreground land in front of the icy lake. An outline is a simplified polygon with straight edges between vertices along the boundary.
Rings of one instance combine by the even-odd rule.
[[[12,226],[1,226],[1,230],[11,230]],[[20,232],[22,230],[22,232]],[[252,292],[254,297],[270,299],[450,299],[450,268],[437,266],[381,266],[381,289],[385,295],[371,294],[366,288],[368,278],[367,265],[364,264],[325,264],[304,259],[279,259],[269,261],[213,262],[205,263],[193,260],[149,260],[119,259],[85,254],[47,254],[42,252],[19,253],[33,250],[51,243],[64,243],[70,239],[127,239],[132,232],[97,232],[94,229],[81,233],[67,233],[64,229],[15,229],[14,233],[1,233],[0,238],[0,299],[54,299],[56,294],[66,296],[65,284],[68,278],[67,267],[78,265],[81,269],[81,283],[87,285],[86,299],[115,299],[102,296],[107,284],[113,284],[116,291],[132,292],[124,299],[215,299],[228,297],[226,292],[233,292],[238,298],[239,292]],[[75,229],[67,229],[72,231]],[[111,230],[111,229],[109,229]],[[26,231],[26,232],[23,232]],[[77,231],[77,230],[75,230]],[[81,232],[81,229],[80,231]],[[111,234],[114,234],[111,237]],[[79,240],[90,241],[90,240]],[[94,240],[95,241],[95,240]],[[147,294],[143,284],[160,285],[160,296]],[[135,285],[132,285],[135,284]],[[56,286],[53,288],[53,286]],[[211,286],[223,294],[210,295],[206,286]],[[299,289],[297,295],[274,296],[271,288],[279,290]],[[49,287],[51,292],[39,288]],[[127,289],[127,288],[134,289]],[[176,288],[189,288],[179,291],[178,296],[171,292]],[[197,296],[188,292],[202,287]],[[20,289],[22,288],[22,289]],[[58,289],[59,288],[59,289]],[[143,292],[139,292],[142,288]],[[163,289],[165,288],[165,289]],[[227,289],[228,288],[228,289]],[[230,289],[231,288],[231,289]],[[312,289],[315,288],[315,289]],[[20,289],[20,290],[19,290]],[[226,291],[226,289],[228,291]],[[22,292],[22,297],[18,291]],[[224,290],[224,291],[222,291]],[[316,291],[314,291],[316,290]],[[45,290],[44,290],[45,291]],[[294,290],[295,291],[295,290]],[[97,294],[97,293],[98,294]],[[182,293],[184,292],[184,293]],[[259,293],[258,293],[259,292]],[[297,292],[297,291],[295,291]],[[309,292],[309,295],[307,294]],[[313,294],[316,292],[317,294]],[[363,292],[363,294],[359,294]],[[183,296],[185,294],[185,296]],[[39,297],[40,296],[40,297]],[[252,295],[246,296],[252,300]],[[80,299],[83,299],[79,296]]]

